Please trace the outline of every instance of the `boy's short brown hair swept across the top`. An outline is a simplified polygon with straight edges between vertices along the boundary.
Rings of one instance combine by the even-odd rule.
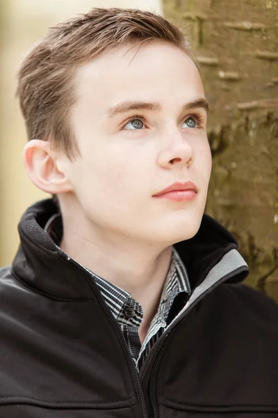
[[[180,47],[194,60],[181,30],[144,10],[93,8],[50,27],[27,53],[17,76],[28,140],[49,140],[70,159],[77,157],[79,150],[69,121],[77,67],[129,42],[156,40]]]

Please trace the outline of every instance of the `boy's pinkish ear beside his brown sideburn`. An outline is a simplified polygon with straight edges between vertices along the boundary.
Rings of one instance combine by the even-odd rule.
[[[28,141],[24,147],[23,160],[29,178],[39,189],[50,194],[72,191],[65,173],[58,169],[57,153],[51,149],[49,141]]]

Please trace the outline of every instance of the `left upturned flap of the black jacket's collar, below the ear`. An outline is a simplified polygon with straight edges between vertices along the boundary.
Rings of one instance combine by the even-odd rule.
[[[57,212],[53,199],[35,203],[19,222],[20,246],[13,261],[13,274],[33,290],[59,300],[90,300],[95,286],[90,274],[70,261],[44,226]]]

